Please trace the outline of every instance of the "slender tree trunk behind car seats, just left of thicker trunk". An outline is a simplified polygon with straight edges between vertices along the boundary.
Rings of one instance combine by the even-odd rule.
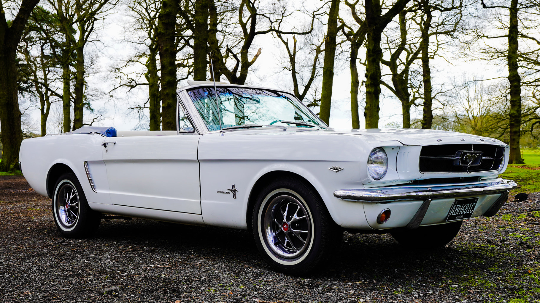
[[[160,130],[161,100],[159,98],[159,76],[156,63],[157,49],[151,49],[147,62],[146,81],[148,81],[148,95],[150,108],[150,130]]]

